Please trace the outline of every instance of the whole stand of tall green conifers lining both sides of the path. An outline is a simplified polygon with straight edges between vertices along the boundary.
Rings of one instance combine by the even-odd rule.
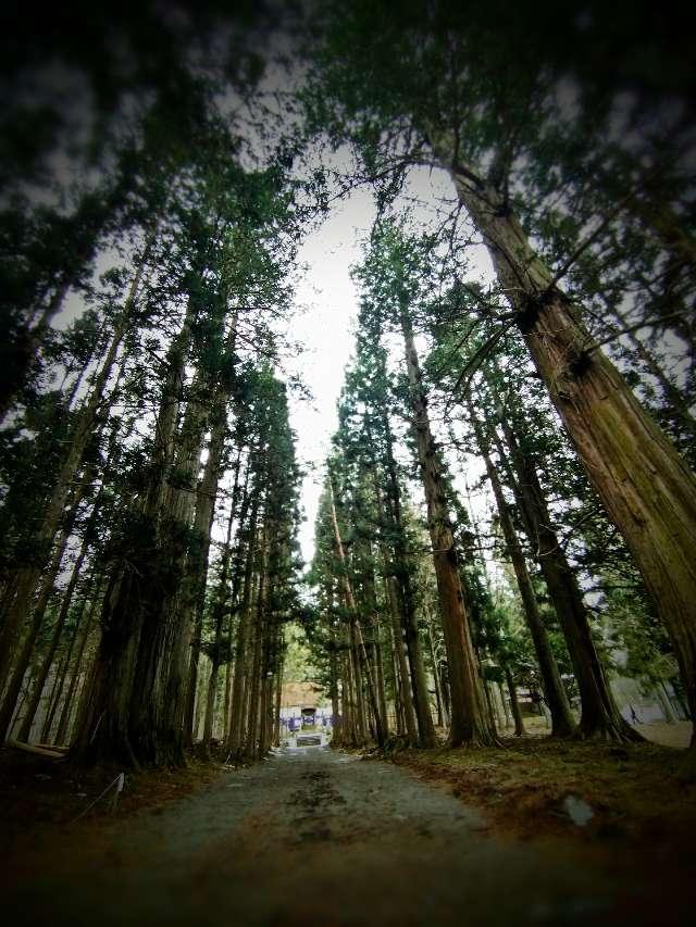
[[[554,737],[637,741],[619,677],[694,716],[682,15],[5,9],[3,738],[262,757],[290,624],[336,744],[496,747],[521,693]],[[365,190],[306,467],[300,252]]]

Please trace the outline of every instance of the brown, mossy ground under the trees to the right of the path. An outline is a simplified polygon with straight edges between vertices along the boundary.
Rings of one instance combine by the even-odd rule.
[[[502,749],[397,750],[391,759],[476,804],[498,834],[572,840],[598,857],[621,848],[643,870],[681,869],[686,861],[696,866],[696,781],[684,780],[685,753],[674,749],[688,744],[692,726],[638,729],[649,738],[645,743],[533,732],[504,737]]]

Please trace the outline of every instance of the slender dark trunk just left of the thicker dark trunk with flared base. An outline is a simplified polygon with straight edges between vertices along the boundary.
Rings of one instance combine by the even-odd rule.
[[[493,494],[496,500],[498,515],[500,517],[500,527],[508,552],[508,556],[514,569],[514,576],[520,590],[522,605],[524,610],[524,618],[526,626],[530,629],[532,641],[534,643],[534,652],[542,673],[542,682],[546,703],[551,714],[551,736],[552,737],[569,737],[575,729],[575,723],[571,715],[568,696],[561,682],[558,664],[551,651],[551,643],[542,618],[539,605],[532,585],[532,578],[526,567],[526,561],[522,547],[518,539],[518,535],[512,522],[512,515],[508,506],[507,500],[502,492],[502,485],[498,476],[498,472],[490,459],[488,451],[488,441],[484,435],[483,427],[476,417],[471,401],[469,402],[469,415],[476,431],[476,438],[481,454],[486,465],[486,474]]]

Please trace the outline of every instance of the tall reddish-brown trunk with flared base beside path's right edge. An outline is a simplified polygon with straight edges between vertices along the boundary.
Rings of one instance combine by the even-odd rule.
[[[413,430],[418,446],[421,480],[427,503],[427,526],[437,576],[451,696],[449,742],[492,744],[495,737],[486,724],[486,707],[471,640],[469,618],[459,576],[459,563],[447,515],[445,486],[431,431],[427,400],[413,339],[406,299],[400,299],[400,320],[406,349]]]

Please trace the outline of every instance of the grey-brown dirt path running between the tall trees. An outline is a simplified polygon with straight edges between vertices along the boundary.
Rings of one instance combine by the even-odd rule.
[[[501,841],[405,769],[285,751],[107,829],[66,830],[3,872],[5,923],[111,927],[681,924],[656,887],[558,847]]]

